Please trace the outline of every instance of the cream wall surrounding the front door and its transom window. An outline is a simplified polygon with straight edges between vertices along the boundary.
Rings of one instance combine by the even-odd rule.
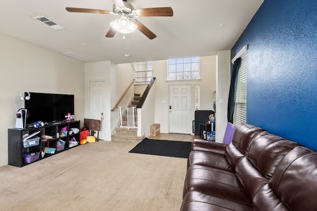
[[[212,110],[213,91],[216,90],[216,56],[200,58],[200,78],[188,82],[167,82],[167,60],[153,61],[153,77],[156,77],[155,85],[155,123],[160,124],[160,132],[169,132],[169,97],[168,86],[172,84],[192,85],[192,117],[195,114],[194,86],[200,85],[200,110]],[[165,101],[165,103],[163,103]]]

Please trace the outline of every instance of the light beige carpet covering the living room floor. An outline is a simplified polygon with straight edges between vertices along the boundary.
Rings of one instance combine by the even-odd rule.
[[[135,145],[99,141],[0,167],[0,210],[179,210],[187,159],[128,153]]]

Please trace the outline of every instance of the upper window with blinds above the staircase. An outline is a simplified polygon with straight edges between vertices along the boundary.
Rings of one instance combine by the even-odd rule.
[[[148,84],[152,79],[152,61],[134,62],[134,84]]]

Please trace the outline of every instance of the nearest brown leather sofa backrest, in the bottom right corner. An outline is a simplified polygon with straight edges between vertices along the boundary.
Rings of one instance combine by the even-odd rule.
[[[316,211],[317,154],[295,147],[252,199],[254,211]]]

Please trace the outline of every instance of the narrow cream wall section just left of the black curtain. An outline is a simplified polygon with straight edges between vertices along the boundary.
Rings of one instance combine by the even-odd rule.
[[[230,50],[218,51],[216,57],[216,142],[222,142],[228,123]],[[219,102],[220,99],[223,99],[223,103]]]

